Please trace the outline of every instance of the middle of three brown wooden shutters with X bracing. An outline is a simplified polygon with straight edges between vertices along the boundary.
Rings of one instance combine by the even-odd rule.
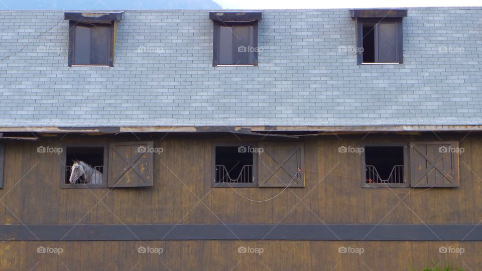
[[[301,143],[265,143],[258,159],[258,186],[304,187],[303,145]]]

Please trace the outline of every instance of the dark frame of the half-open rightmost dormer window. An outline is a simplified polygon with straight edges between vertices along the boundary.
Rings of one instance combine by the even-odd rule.
[[[395,24],[395,36],[397,40],[395,41],[397,48],[395,50],[396,62],[377,62],[378,60],[378,27],[375,27],[375,62],[363,62],[363,52],[362,50],[357,50],[356,61],[357,65],[380,65],[380,64],[403,64],[403,23],[402,18],[356,18],[356,48],[363,48],[363,24],[373,24],[379,23],[394,23]]]

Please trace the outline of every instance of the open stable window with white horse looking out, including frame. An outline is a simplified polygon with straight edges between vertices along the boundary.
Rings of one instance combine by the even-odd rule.
[[[106,187],[107,146],[65,146],[63,188]]]

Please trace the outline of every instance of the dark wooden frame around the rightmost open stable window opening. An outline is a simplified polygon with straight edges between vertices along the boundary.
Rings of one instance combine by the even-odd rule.
[[[409,146],[407,143],[372,143],[363,144],[361,146],[364,150],[366,147],[403,147],[403,184],[369,184],[367,183],[366,170],[366,152],[361,155],[361,170],[362,170],[362,188],[407,188],[410,187],[410,164],[409,164]]]

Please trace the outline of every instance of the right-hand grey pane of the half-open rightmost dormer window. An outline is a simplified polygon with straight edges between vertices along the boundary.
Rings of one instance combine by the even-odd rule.
[[[395,23],[379,23],[378,62],[398,62]]]

